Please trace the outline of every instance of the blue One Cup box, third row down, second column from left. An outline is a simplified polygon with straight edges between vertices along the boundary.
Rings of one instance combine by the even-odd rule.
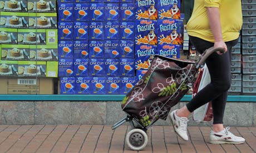
[[[89,58],[88,41],[73,41],[74,58]]]

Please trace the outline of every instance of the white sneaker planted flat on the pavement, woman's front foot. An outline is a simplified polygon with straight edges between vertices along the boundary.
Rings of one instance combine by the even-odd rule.
[[[220,132],[210,131],[210,144],[243,144],[243,137],[235,136],[229,131],[230,127],[226,127]]]

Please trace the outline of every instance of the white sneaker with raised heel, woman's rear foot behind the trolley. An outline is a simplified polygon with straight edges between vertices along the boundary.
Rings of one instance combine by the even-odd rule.
[[[176,111],[178,109],[172,111],[170,113],[170,120],[171,123],[173,124],[175,132],[185,141],[189,140],[188,137],[188,131],[187,131],[187,126],[188,126],[188,118],[185,117],[179,117],[176,115]]]

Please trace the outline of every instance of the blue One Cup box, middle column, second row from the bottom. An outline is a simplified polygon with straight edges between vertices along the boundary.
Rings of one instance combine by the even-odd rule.
[[[105,59],[90,59],[89,63],[89,76],[105,76]]]

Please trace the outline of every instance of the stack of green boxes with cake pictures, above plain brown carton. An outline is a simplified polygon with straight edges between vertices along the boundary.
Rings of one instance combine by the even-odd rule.
[[[0,75],[57,77],[55,0],[0,1]]]

